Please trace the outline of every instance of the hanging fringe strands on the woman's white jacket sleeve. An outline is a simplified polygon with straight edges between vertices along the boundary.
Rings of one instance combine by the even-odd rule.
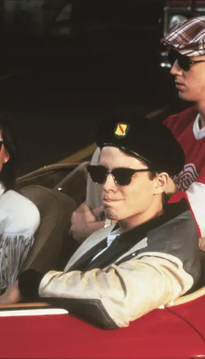
[[[17,279],[34,242],[34,236],[0,234],[0,293]]]

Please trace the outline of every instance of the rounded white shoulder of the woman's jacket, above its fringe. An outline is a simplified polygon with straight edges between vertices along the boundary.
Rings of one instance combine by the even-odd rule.
[[[0,196],[0,230],[33,235],[40,224],[37,207],[22,194],[9,190]]]

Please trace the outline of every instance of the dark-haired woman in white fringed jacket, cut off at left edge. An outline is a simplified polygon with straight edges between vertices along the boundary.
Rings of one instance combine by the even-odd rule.
[[[0,293],[16,280],[40,223],[37,207],[14,191],[16,163],[9,122],[0,118]]]

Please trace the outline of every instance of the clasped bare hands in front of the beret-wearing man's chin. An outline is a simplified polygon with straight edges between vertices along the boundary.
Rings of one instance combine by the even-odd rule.
[[[76,211],[73,212],[71,217],[70,232],[72,233],[73,238],[78,243],[82,243],[97,229],[103,228],[105,221],[100,221],[103,213],[103,206],[91,211],[86,203],[81,204]]]

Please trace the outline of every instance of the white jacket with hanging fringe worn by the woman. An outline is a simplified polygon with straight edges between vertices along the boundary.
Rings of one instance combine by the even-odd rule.
[[[39,224],[37,207],[0,183],[0,293],[16,280]]]

